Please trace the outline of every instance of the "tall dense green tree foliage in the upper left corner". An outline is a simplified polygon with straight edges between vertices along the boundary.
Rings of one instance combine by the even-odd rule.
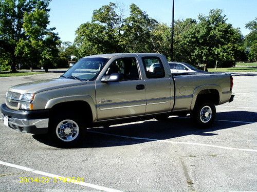
[[[50,0],[0,0],[1,63],[15,71],[23,65],[52,65],[57,58],[59,37],[49,24]]]

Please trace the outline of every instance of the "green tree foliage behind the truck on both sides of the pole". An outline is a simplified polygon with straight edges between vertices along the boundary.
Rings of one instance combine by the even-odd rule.
[[[130,6],[130,15],[123,19],[116,8],[110,3],[95,10],[92,21],[78,28],[75,42],[80,56],[155,52],[170,57],[171,27],[158,23],[135,4]],[[240,30],[227,23],[221,9],[213,9],[207,16],[200,14],[198,21],[192,18],[175,21],[173,58],[177,61],[229,67],[243,52]]]

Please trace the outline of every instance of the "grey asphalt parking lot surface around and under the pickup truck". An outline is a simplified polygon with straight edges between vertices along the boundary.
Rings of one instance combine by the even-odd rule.
[[[1,77],[0,103],[10,86],[59,75]],[[256,191],[257,73],[233,77],[234,101],[205,130],[189,118],[151,119],[89,129],[81,147],[64,149],[1,120],[0,191]]]

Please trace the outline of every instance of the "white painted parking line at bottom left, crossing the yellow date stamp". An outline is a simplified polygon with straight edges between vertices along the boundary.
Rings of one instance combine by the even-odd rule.
[[[15,164],[7,163],[7,162],[4,162],[4,161],[0,161],[0,164],[5,165],[5,166],[9,166],[9,167],[19,168],[19,169],[25,170],[26,172],[39,174],[39,175],[43,175],[43,176],[46,176],[46,177],[57,178],[58,180],[65,180],[65,181],[67,181],[67,183],[74,183],[74,184],[77,184],[77,185],[82,185],[82,186],[86,186],[86,187],[90,187],[90,188],[94,188],[94,189],[98,189],[98,190],[103,190],[103,191],[108,191],[108,192],[122,192],[121,190],[116,190],[116,189],[112,189],[112,188],[108,188],[108,187],[103,187],[103,186],[100,186],[100,185],[94,185],[94,184],[91,184],[91,183],[85,183],[85,182],[81,182],[81,181],[77,181],[77,180],[74,181],[74,180],[71,180],[71,179],[63,177],[63,176],[49,174],[49,173],[46,173],[46,172],[41,172],[40,170],[34,170],[32,168],[29,168],[29,167],[15,165]]]

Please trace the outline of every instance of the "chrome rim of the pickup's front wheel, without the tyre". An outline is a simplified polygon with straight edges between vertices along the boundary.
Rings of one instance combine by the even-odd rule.
[[[79,125],[74,120],[62,120],[56,127],[56,135],[62,141],[73,141],[79,135]]]

